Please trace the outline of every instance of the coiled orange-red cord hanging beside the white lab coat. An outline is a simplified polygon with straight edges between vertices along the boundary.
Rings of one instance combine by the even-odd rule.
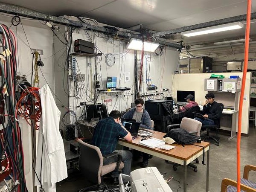
[[[25,90],[26,92],[23,91],[21,94],[16,105],[17,114],[23,116],[29,125],[31,125],[29,119],[35,119],[35,129],[37,130],[39,130],[38,122],[40,122],[41,116],[41,99],[38,92],[39,89],[40,88],[38,87],[27,88],[27,90]],[[31,101],[31,98],[33,98],[33,101]],[[27,101],[22,102],[24,99],[27,99]],[[34,106],[32,105],[33,107],[31,108],[32,103],[34,103]]]

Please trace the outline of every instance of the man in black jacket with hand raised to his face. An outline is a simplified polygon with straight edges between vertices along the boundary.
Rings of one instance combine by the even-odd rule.
[[[218,124],[218,119],[221,117],[221,105],[214,101],[214,94],[207,93],[205,96],[206,101],[203,107],[204,119],[195,117],[194,119],[200,121],[203,125]]]

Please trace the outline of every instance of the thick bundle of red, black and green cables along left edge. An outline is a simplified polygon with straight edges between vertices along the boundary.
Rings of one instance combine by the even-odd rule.
[[[13,189],[17,192],[26,192],[23,147],[21,141],[20,126],[17,121],[17,111],[15,110],[15,87],[16,87],[16,70],[17,70],[17,39],[6,25],[0,24],[0,123],[3,127],[0,130],[0,152],[1,152],[1,180],[11,175],[15,181]]]

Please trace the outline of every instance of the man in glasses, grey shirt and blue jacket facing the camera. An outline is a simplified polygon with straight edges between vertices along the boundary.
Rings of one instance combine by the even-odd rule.
[[[141,98],[136,99],[135,105],[136,105],[135,108],[131,108],[122,117],[125,119],[135,119],[136,122],[140,122],[141,128],[153,130],[153,128],[151,128],[151,119],[148,114],[148,111],[143,109],[144,100]],[[148,166],[148,158],[149,158],[149,155],[143,153],[142,167]]]

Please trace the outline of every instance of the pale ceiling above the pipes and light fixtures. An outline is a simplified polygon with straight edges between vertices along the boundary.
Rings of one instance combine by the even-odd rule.
[[[138,27],[135,29],[131,26],[142,24],[143,29],[156,32],[247,13],[246,0],[0,0],[0,3],[22,6],[54,16],[93,18],[99,23],[124,29],[139,30]],[[253,0],[251,12],[256,12],[256,0]],[[183,40],[185,44],[190,45],[234,40],[245,36],[246,21],[242,23],[243,29],[190,38],[184,38],[177,33],[168,35],[167,38],[174,41]],[[254,20],[250,27],[250,38],[256,38]]]

